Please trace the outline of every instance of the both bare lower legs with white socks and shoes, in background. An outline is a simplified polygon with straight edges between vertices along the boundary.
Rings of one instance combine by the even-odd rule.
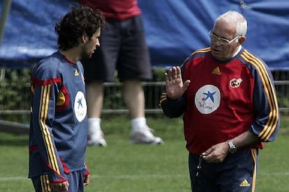
[[[131,116],[131,143],[161,144],[163,140],[154,136],[147,125],[144,114],[144,90],[140,81],[124,81],[124,101]],[[87,84],[88,145],[107,145],[101,130],[101,110],[103,106],[103,84]]]

